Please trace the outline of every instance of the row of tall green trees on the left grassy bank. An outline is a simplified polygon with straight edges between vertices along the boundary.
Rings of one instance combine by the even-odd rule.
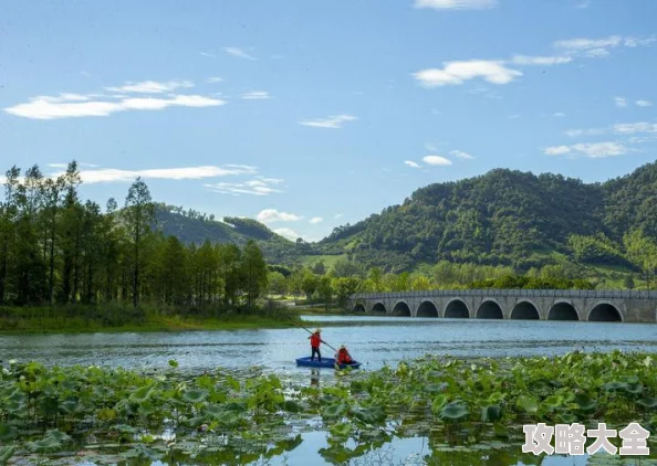
[[[119,208],[79,195],[72,161],[56,178],[38,166],[6,173],[0,203],[0,306],[140,303],[253,308],[267,265],[253,241],[182,244],[154,229],[148,187],[136,179]]]

